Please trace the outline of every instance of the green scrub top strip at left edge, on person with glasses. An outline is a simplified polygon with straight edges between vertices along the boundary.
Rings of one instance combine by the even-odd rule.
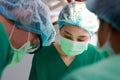
[[[6,30],[0,22],[0,79],[4,68],[12,59],[12,50],[9,44],[9,39]]]

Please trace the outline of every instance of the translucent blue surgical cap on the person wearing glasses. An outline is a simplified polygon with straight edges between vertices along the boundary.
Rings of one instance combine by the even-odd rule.
[[[0,0],[0,14],[17,27],[41,35],[43,46],[55,40],[50,10],[41,0]]]

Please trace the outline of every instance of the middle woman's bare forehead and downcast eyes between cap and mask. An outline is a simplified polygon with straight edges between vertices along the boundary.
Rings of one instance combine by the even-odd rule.
[[[87,42],[90,40],[90,35],[87,31],[73,25],[65,25],[60,30],[61,36],[72,41]]]

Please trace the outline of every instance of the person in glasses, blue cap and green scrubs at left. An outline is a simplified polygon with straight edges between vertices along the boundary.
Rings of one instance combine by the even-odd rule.
[[[6,66],[19,63],[55,38],[49,8],[40,0],[0,0],[0,77]]]

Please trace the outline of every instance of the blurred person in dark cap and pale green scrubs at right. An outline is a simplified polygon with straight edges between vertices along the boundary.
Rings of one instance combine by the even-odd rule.
[[[77,69],[61,80],[120,80],[120,0],[88,0],[87,8],[100,19],[98,39],[107,58]]]

